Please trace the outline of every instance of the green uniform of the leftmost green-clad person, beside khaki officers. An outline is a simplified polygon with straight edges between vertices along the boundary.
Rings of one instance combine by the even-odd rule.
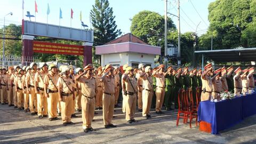
[[[173,91],[174,91],[174,76],[167,74],[165,76],[165,96],[164,105],[166,109],[171,109],[173,101]]]

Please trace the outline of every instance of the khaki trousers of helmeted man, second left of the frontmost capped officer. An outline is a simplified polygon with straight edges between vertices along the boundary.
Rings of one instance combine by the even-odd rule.
[[[49,98],[47,98],[49,118],[54,118],[58,116],[57,115],[58,100],[59,100],[58,92],[49,93]]]

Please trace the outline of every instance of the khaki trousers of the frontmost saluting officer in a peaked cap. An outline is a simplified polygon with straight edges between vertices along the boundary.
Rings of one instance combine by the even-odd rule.
[[[82,119],[83,129],[91,128],[92,119],[94,117],[95,98],[86,98],[82,95]]]

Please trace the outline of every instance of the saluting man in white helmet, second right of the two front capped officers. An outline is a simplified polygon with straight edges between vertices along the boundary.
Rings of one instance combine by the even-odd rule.
[[[145,68],[145,73],[140,75],[143,82],[143,91],[142,91],[142,116],[145,118],[151,118],[150,115],[150,106],[152,97],[154,94],[154,87],[153,87],[153,76],[152,70],[150,66]]]

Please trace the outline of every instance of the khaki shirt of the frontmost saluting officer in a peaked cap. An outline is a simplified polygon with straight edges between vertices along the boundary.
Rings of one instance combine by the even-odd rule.
[[[85,76],[77,79],[77,82],[81,83],[81,93],[89,98],[95,97],[96,91],[96,79],[94,77],[87,78]]]

